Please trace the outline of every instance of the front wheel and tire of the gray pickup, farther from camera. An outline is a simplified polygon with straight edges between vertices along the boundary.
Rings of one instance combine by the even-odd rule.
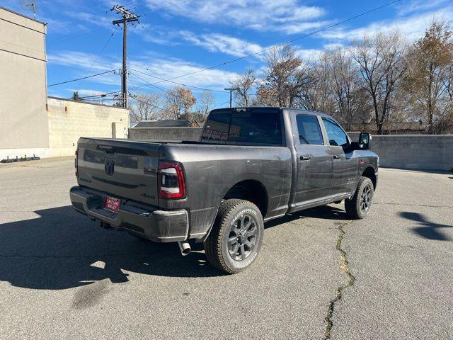
[[[368,177],[360,177],[357,190],[351,199],[345,200],[345,210],[352,220],[367,217],[373,203],[374,186]]]

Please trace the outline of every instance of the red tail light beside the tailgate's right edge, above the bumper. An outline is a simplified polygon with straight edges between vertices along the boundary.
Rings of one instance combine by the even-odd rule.
[[[180,164],[159,163],[159,197],[170,200],[185,198],[184,173]]]

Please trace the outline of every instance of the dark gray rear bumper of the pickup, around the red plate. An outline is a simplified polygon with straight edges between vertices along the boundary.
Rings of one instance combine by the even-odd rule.
[[[186,210],[159,210],[152,205],[123,199],[120,210],[110,212],[103,209],[106,195],[81,186],[72,187],[69,194],[75,210],[117,229],[127,229],[154,242],[176,242],[188,238]]]

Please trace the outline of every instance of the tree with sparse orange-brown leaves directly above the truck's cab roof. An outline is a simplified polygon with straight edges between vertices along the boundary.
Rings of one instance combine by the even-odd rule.
[[[270,50],[266,62],[266,77],[258,89],[260,101],[273,106],[294,107],[297,98],[301,98],[313,82],[309,64],[302,62],[290,45]]]

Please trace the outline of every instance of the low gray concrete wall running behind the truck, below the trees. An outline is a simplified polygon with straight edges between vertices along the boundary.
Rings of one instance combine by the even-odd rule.
[[[132,140],[197,141],[202,128],[130,128]],[[349,132],[352,140],[359,132]],[[453,135],[373,135],[372,151],[381,166],[413,170],[453,171]]]

